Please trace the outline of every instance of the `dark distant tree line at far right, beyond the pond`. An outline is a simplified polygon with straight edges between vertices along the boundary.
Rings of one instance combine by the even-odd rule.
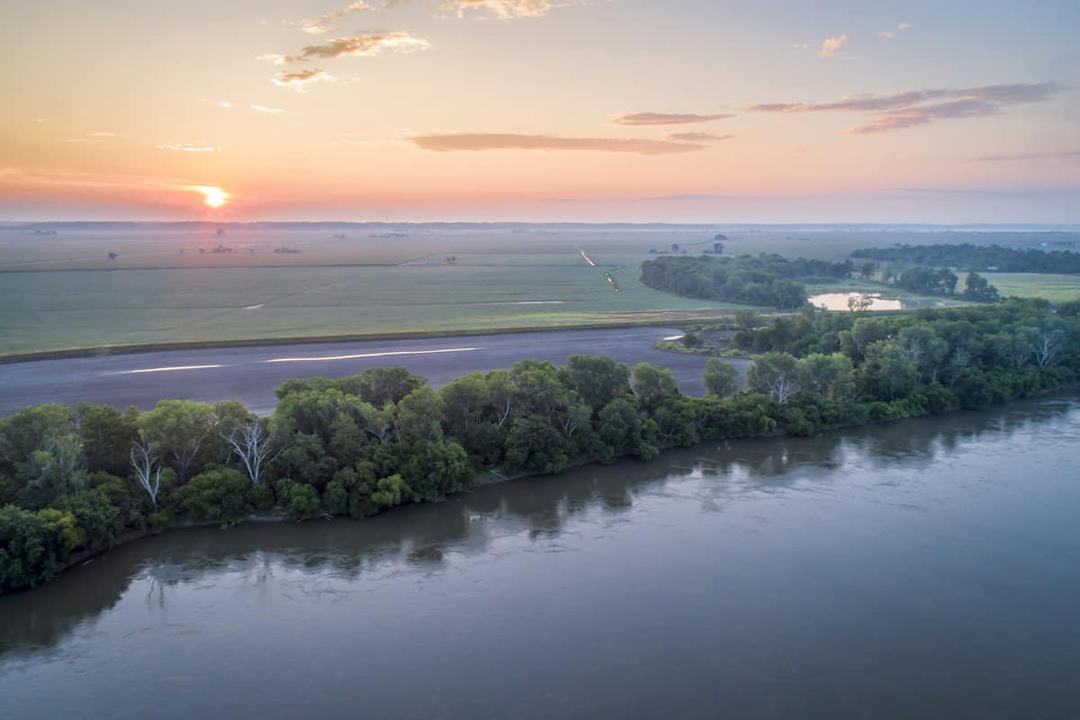
[[[851,257],[982,272],[1080,273],[1080,253],[1016,249],[1000,245],[964,243],[869,247],[852,252]]]

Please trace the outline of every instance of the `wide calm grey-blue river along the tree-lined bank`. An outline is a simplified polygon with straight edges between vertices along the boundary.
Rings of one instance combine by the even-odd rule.
[[[171,532],[0,597],[0,716],[1076,718],[1077,467],[1066,394]]]

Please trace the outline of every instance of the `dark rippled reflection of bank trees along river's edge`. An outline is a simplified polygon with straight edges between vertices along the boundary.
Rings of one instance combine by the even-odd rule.
[[[553,539],[571,519],[599,511],[617,518],[643,493],[662,494],[678,478],[730,476],[711,484],[703,503],[738,499],[762,487],[784,487],[805,467],[828,471],[856,452],[874,464],[929,465],[935,453],[1004,433],[1031,432],[1077,407],[1071,397],[1018,403],[964,412],[825,433],[811,438],[769,438],[671,450],[658,460],[592,465],[555,477],[537,477],[462,492],[442,503],[395,508],[375,518],[305,524],[253,522],[227,531],[197,528],[119,547],[30,592],[0,596],[0,664],[48,651],[80,624],[117,606],[136,583],[145,601],[167,607],[173,588],[214,585],[283,593],[346,592],[366,575],[392,579],[409,569],[437,571],[450,555],[490,552],[500,538]],[[141,588],[140,588],[141,589]],[[2,667],[2,665],[0,665]]]

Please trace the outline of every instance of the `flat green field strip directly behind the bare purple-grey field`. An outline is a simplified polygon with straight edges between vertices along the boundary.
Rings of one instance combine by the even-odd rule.
[[[611,272],[615,293],[604,273]],[[735,305],[636,268],[458,266],[8,273],[0,355],[99,345],[625,324]]]

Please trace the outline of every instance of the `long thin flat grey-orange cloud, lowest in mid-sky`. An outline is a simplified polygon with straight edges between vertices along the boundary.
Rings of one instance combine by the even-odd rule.
[[[613,137],[555,137],[553,135],[517,135],[514,133],[457,133],[447,135],[414,135],[405,138],[421,150],[460,152],[477,150],[585,150],[625,152],[639,155],[663,155],[704,150],[708,146],[670,140],[638,140]]]

